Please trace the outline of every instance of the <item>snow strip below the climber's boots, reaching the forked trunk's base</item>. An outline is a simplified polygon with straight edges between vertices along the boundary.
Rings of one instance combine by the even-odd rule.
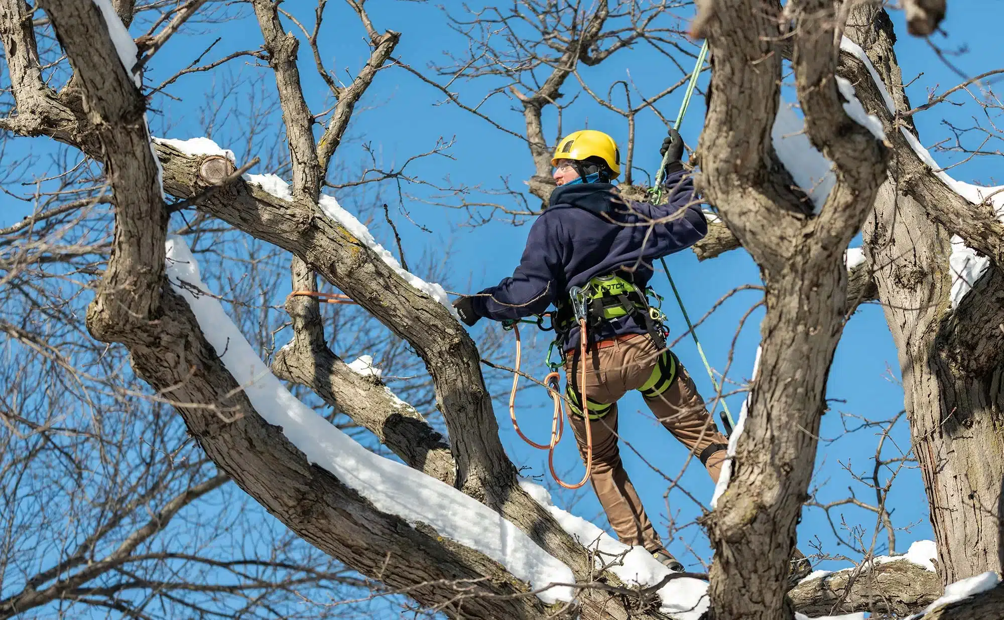
[[[551,501],[551,494],[535,483],[522,480],[519,486],[554,517],[561,529],[595,554],[596,567],[607,570],[625,584],[651,586],[672,573],[642,547],[629,547],[595,525],[563,511]],[[708,609],[708,582],[690,577],[674,579],[659,589],[660,611],[676,620],[698,620]]]

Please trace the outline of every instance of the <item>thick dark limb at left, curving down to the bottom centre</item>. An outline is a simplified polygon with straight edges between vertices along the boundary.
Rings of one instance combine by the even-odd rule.
[[[465,615],[472,617],[545,614],[538,597],[514,596],[527,586],[498,563],[432,529],[376,510],[335,477],[309,464],[281,428],[256,412],[202,336],[188,303],[167,286],[166,211],[144,104],[116,57],[109,25],[91,2],[52,0],[44,8],[79,76],[98,140],[106,144],[105,167],[115,192],[115,253],[94,302],[96,310],[88,313],[91,331],[124,343],[137,373],[175,402],[217,466],[320,549],[427,605],[449,606],[460,596]],[[142,235],[130,234],[138,227],[145,229]],[[158,241],[159,247],[152,245]],[[115,280],[120,274],[133,274],[133,279],[120,283]],[[583,560],[584,555],[580,552]],[[464,592],[458,595],[457,588]],[[471,594],[475,596],[467,600]]]

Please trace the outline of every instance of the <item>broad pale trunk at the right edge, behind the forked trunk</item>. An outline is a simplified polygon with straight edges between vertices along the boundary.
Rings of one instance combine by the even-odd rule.
[[[882,9],[861,6],[846,35],[868,54],[898,108],[909,109]],[[859,89],[862,94],[867,89]],[[868,105],[867,97],[865,105]],[[868,105],[899,132],[877,102]],[[902,122],[902,121],[901,121]],[[912,154],[912,153],[907,153]],[[900,162],[911,165],[899,167]],[[929,220],[931,209],[906,196],[895,180],[913,178],[913,158],[895,159],[864,229],[866,252],[900,354],[905,402],[921,463],[945,583],[1002,570],[1000,507],[1004,481],[1001,345],[1004,284],[991,267],[958,310],[949,294],[950,233]],[[916,193],[911,193],[916,196]],[[919,198],[923,198],[920,196]],[[994,457],[988,457],[993,454]]]

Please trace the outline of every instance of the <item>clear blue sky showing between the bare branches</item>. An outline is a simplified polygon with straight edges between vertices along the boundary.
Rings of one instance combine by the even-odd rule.
[[[290,8],[292,4],[286,3],[284,6]],[[303,3],[302,7],[297,4],[295,11],[309,23],[312,9],[308,8],[308,4],[310,3]],[[342,76],[346,75],[346,71],[347,74],[354,74],[368,56],[368,49],[363,42],[364,31],[350,9],[339,3],[330,4],[327,25],[321,36],[322,55],[329,66],[344,69],[341,71]],[[444,61],[444,51],[463,49],[465,45],[464,39],[447,27],[442,11],[431,4],[384,0],[370,5],[367,5],[367,9],[379,30],[394,29],[403,33],[395,55],[416,68],[427,70],[428,63]],[[947,49],[957,49],[963,45],[968,47],[968,53],[951,56],[952,62],[967,74],[997,68],[995,62],[1002,57],[1001,44],[995,31],[999,19],[988,19],[987,15],[999,17],[999,7],[1000,3],[994,0],[955,2],[950,6],[948,19],[943,24],[949,35],[936,37],[936,40],[941,47]],[[687,10],[682,9],[680,17],[686,17],[687,14]],[[929,89],[941,91],[961,81],[935,56],[924,40],[907,35],[901,13],[894,12],[893,18],[899,36],[897,51],[904,79],[910,82],[917,78],[908,88],[914,105],[923,102]],[[198,35],[176,36],[158,55],[151,67],[151,81],[159,83],[158,78],[170,75],[188,64],[216,36],[223,37],[223,41],[218,49],[207,55],[207,60],[260,44],[260,33],[253,19],[199,24],[196,27],[200,32]],[[134,35],[141,33],[141,30],[134,28]],[[696,51],[696,47],[694,49]],[[687,62],[688,66],[691,62]],[[315,110],[323,109],[326,107],[326,89],[313,70],[312,59],[305,46],[300,51],[300,68],[309,103]],[[231,73],[239,79],[227,83],[221,79],[225,73]],[[657,92],[682,76],[664,56],[644,46],[618,52],[601,66],[584,69],[582,73],[590,84],[598,86],[604,92],[611,81],[630,78],[646,94]],[[253,78],[262,76],[264,80],[256,84]],[[572,81],[569,80],[569,85]],[[702,80],[702,86],[706,82],[707,76]],[[216,93],[213,96],[218,96],[224,90],[229,90],[232,102],[228,105],[234,111],[246,111],[253,93],[259,90],[270,92],[273,88],[274,80],[270,71],[245,62],[244,59],[233,61],[216,75],[196,74],[191,78],[184,78],[176,86],[169,88],[169,92],[180,100],[163,96],[155,98],[153,106],[156,112],[151,114],[154,132],[179,138],[204,135],[207,133],[206,120],[200,108],[205,104],[207,92],[212,91]],[[487,85],[458,83],[455,88],[466,102],[473,103],[480,100]],[[570,87],[569,90],[573,91],[575,88]],[[676,114],[681,93],[682,90],[663,99],[659,107],[664,114],[670,117]],[[338,150],[336,165],[343,165],[348,172],[344,178],[331,180],[337,182],[350,179],[352,172],[357,171],[360,162],[367,157],[364,146],[375,153],[380,166],[391,168],[399,166],[409,157],[430,150],[441,140],[453,140],[453,145],[445,156],[417,161],[410,166],[409,172],[436,184],[464,184],[497,190],[502,186],[502,180],[508,179],[514,188],[522,188],[523,180],[533,174],[532,161],[525,142],[493,128],[484,120],[452,104],[438,104],[442,98],[441,93],[402,69],[388,68],[381,71],[370,91],[360,102],[361,111],[350,125],[351,139]],[[955,97],[955,100],[966,101],[962,97]],[[511,106],[512,101],[497,97],[489,101],[484,109],[504,126],[522,132],[522,116],[513,111]],[[942,105],[918,115],[916,121],[922,142],[931,145],[951,136],[943,118],[949,118],[956,124],[965,124],[971,115],[978,113],[981,110],[970,101],[964,107]],[[691,145],[697,143],[703,114],[703,97],[698,95],[683,126],[684,137]],[[265,145],[274,141],[276,136],[278,113],[273,112],[270,118],[270,121],[263,123],[262,139],[250,146],[242,139],[247,127],[247,120],[243,117],[230,116],[225,122],[216,123],[212,134],[221,145],[236,151],[239,163],[256,156],[265,160]],[[548,123],[547,137],[553,140],[556,137],[554,114],[548,112],[545,120]],[[643,113],[639,122],[636,153],[638,165],[654,170],[665,128],[651,112]],[[618,140],[622,140],[626,134],[626,122],[622,118],[598,105],[590,104],[584,97],[581,104],[573,105],[565,111],[563,123],[565,132],[589,126],[604,130]],[[935,152],[935,157],[943,166],[962,159],[945,152]],[[951,174],[962,181],[996,185],[1001,183],[998,170],[999,165],[994,159],[974,158],[953,169]],[[260,166],[252,172],[272,171]],[[430,204],[456,203],[455,199],[437,199],[439,193],[429,186],[406,184],[403,189],[411,196],[406,198],[403,205],[397,204],[395,186],[386,184],[382,191],[383,200],[391,205],[391,214],[398,224],[406,253],[413,262],[417,262],[414,261],[416,257],[423,254],[436,257],[448,247],[449,271],[444,281],[448,290],[473,292],[512,273],[522,253],[529,220],[517,220],[516,225],[513,225],[502,218],[483,226],[472,227],[464,211]],[[341,196],[337,191],[334,194]],[[483,198],[476,193],[470,196],[471,200]],[[353,212],[368,212],[372,207],[367,203],[351,202],[360,199],[355,196],[343,200],[343,206]],[[375,199],[372,195],[367,195],[365,200]],[[535,203],[535,199],[531,197],[531,204]],[[512,201],[508,204],[516,206]],[[407,210],[409,217],[419,226],[408,222],[403,209]],[[19,213],[8,212],[0,217],[0,222],[19,219],[20,216]],[[387,247],[394,246],[393,237],[385,226],[375,225],[373,232],[378,240]],[[755,264],[741,251],[706,263],[699,263],[688,251],[671,257],[669,265],[688,310],[695,319],[704,315],[716,300],[733,288],[743,284],[759,284]],[[683,319],[675,308],[665,277],[657,276],[654,285],[668,297],[665,310],[670,317],[673,333],[671,339],[675,339],[686,329]],[[278,292],[277,300],[284,297],[285,293],[286,291]],[[699,328],[704,349],[716,368],[725,366],[737,324],[758,299],[756,292],[742,292],[724,304]],[[754,312],[738,336],[730,379],[741,382],[750,375],[759,341],[758,323],[761,316],[760,311]],[[479,323],[472,330],[476,339],[483,334],[485,323]],[[367,351],[364,345],[356,344],[355,347],[353,350],[339,352],[349,358],[352,355],[375,353]],[[710,394],[710,381],[692,341],[682,341],[676,352],[689,367],[702,393]],[[509,363],[511,353],[508,355],[508,358],[501,357],[498,361]],[[526,367],[542,378],[545,373],[542,356],[530,353],[527,357]],[[820,500],[833,501],[847,497],[848,485],[854,487],[862,500],[870,502],[873,499],[873,493],[850,480],[843,466],[855,473],[869,471],[869,459],[874,455],[876,437],[869,430],[841,437],[844,430],[840,412],[870,419],[892,417],[903,408],[903,391],[898,380],[897,352],[882,309],[875,304],[864,305],[847,324],[832,366],[827,394],[833,400],[832,408],[823,417],[820,436],[835,440],[824,441],[819,446],[814,485],[820,486]],[[546,481],[545,455],[529,448],[516,436],[508,421],[504,399],[501,398],[504,394],[500,392],[496,395],[500,397],[496,413],[507,451],[515,462],[528,468],[525,475],[538,479],[542,477],[541,480]],[[740,401],[741,396],[730,399],[734,413],[738,412]],[[545,437],[549,431],[550,417],[543,390],[524,391],[519,396],[519,403],[521,424],[527,432],[537,438]],[[675,477],[686,457],[682,446],[651,419],[639,397],[630,396],[621,400],[620,411],[620,433],[624,441],[653,466],[671,478]],[[894,436],[899,445],[909,444],[909,432],[905,423],[899,424]],[[691,523],[700,514],[694,503],[679,491],[670,493],[668,499],[664,498],[668,487],[666,480],[630,449],[622,446],[621,452],[650,517],[664,536],[668,520],[672,519],[682,525]],[[891,452],[886,453],[888,455]],[[559,446],[556,459],[564,466],[567,478],[577,480],[581,475],[581,463],[570,437],[566,437]],[[700,466],[692,464],[681,484],[707,505],[713,488]],[[558,494],[557,501],[559,505],[571,507],[570,510],[575,514],[605,527],[598,503],[588,488],[575,493]],[[895,507],[894,522],[898,527],[916,524],[909,532],[898,533],[897,551],[904,552],[911,542],[931,537],[926,498],[916,470],[908,470],[900,475],[891,502]],[[874,524],[870,514],[859,509],[848,509],[834,513],[834,517],[839,519],[841,513],[848,524],[865,528],[866,538],[870,538],[870,529]],[[846,535],[840,530],[837,530],[837,534]],[[814,538],[822,543],[825,552],[856,556],[837,544],[821,511],[806,509],[799,527],[799,546],[804,552],[811,553],[809,541]],[[881,540],[885,540],[885,535]],[[668,542],[671,551],[693,568],[700,566],[694,553],[704,559],[709,556],[703,532],[696,526],[691,525],[681,531],[677,539]],[[688,551],[689,548],[694,553]],[[880,547],[878,551],[884,552],[885,549]],[[832,569],[839,566],[842,565],[829,563],[820,568]]]

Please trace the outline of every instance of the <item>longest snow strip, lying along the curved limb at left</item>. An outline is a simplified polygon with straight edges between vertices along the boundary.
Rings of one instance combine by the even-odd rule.
[[[209,294],[185,241],[172,236],[166,245],[168,278],[191,306],[207,340],[258,413],[280,426],[307,460],[330,472],[376,510],[398,515],[412,525],[427,524],[440,536],[495,560],[534,589],[574,582],[567,566],[488,507],[421,472],[370,452],[289,393],[219,300]],[[574,591],[553,587],[537,596],[546,603],[571,601]]]

